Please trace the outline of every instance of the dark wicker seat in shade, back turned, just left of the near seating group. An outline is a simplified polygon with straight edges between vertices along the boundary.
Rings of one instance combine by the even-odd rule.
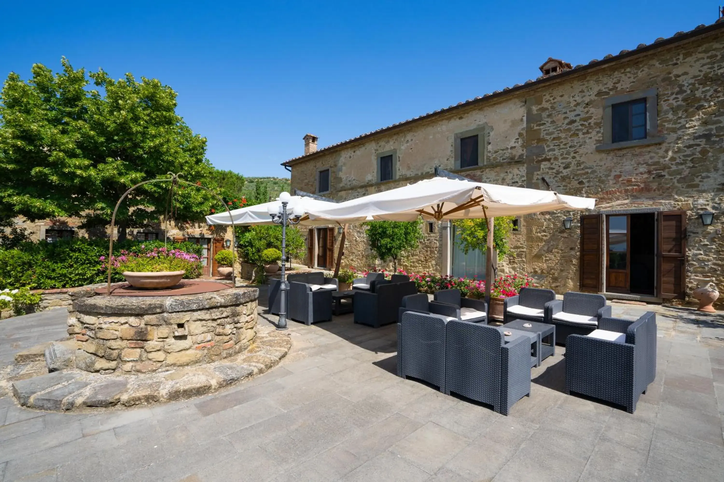
[[[381,327],[397,322],[398,309],[405,296],[417,293],[413,281],[408,283],[384,283],[376,287],[375,293],[356,291],[354,298],[355,323]]]

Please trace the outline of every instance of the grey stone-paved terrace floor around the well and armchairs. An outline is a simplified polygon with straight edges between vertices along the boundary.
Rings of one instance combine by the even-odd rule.
[[[559,349],[534,369],[531,397],[500,416],[398,378],[395,327],[347,315],[290,322],[294,346],[280,366],[194,400],[62,414],[2,398],[0,479],[720,482],[724,319],[656,310],[658,376],[633,415],[564,395]],[[0,322],[0,360],[62,337],[64,317]]]

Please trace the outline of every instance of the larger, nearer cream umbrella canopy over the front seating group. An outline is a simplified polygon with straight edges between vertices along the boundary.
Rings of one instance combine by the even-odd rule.
[[[363,223],[370,220],[411,221],[495,218],[533,212],[593,209],[596,199],[554,191],[499,186],[436,177],[338,204],[310,206],[311,220]]]

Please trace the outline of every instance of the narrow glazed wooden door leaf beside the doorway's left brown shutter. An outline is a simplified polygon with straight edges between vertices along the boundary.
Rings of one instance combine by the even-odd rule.
[[[628,215],[606,217],[606,291],[628,293],[630,218]]]

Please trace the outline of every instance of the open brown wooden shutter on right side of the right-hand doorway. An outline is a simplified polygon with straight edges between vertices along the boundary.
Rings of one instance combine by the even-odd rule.
[[[681,298],[686,291],[686,211],[659,213],[659,280],[661,298]]]

